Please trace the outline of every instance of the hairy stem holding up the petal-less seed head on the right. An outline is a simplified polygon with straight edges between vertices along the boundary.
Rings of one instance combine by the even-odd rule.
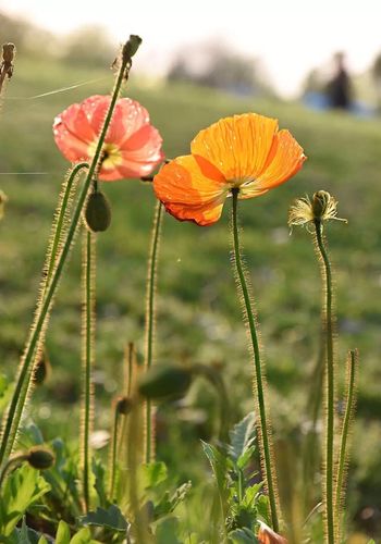
[[[315,220],[316,240],[323,263],[323,281],[325,282],[325,360],[327,360],[327,429],[325,429],[325,523],[329,544],[334,544],[334,498],[333,498],[333,448],[334,448],[334,355],[333,355],[333,289],[332,270],[322,236],[322,224]]]

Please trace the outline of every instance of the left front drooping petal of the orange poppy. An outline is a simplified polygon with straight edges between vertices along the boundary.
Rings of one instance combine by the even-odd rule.
[[[155,176],[156,196],[182,221],[202,225],[214,223],[221,215],[229,186],[223,177],[213,180],[204,175],[202,172],[207,171],[205,163],[201,171],[193,156],[179,157]]]

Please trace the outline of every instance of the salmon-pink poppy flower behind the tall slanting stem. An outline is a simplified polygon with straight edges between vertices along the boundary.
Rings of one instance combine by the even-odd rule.
[[[110,96],[95,95],[70,106],[54,119],[56,144],[67,160],[93,158],[110,100]],[[119,99],[105,139],[99,180],[113,182],[149,175],[163,160],[161,144],[147,110],[130,98]]]

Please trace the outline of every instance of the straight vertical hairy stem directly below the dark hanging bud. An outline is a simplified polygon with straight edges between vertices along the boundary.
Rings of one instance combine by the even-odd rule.
[[[84,366],[84,408],[82,423],[82,447],[83,447],[83,469],[84,469],[84,503],[86,511],[90,507],[90,432],[93,426],[93,364],[94,364],[94,309],[95,309],[95,235],[89,231],[84,232],[84,260],[83,260],[83,366]]]

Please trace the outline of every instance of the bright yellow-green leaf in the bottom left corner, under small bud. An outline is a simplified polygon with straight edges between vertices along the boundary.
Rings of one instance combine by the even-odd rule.
[[[42,495],[50,491],[50,485],[39,475],[38,470],[23,465],[7,479],[0,498],[0,534],[9,536],[24,512]]]

